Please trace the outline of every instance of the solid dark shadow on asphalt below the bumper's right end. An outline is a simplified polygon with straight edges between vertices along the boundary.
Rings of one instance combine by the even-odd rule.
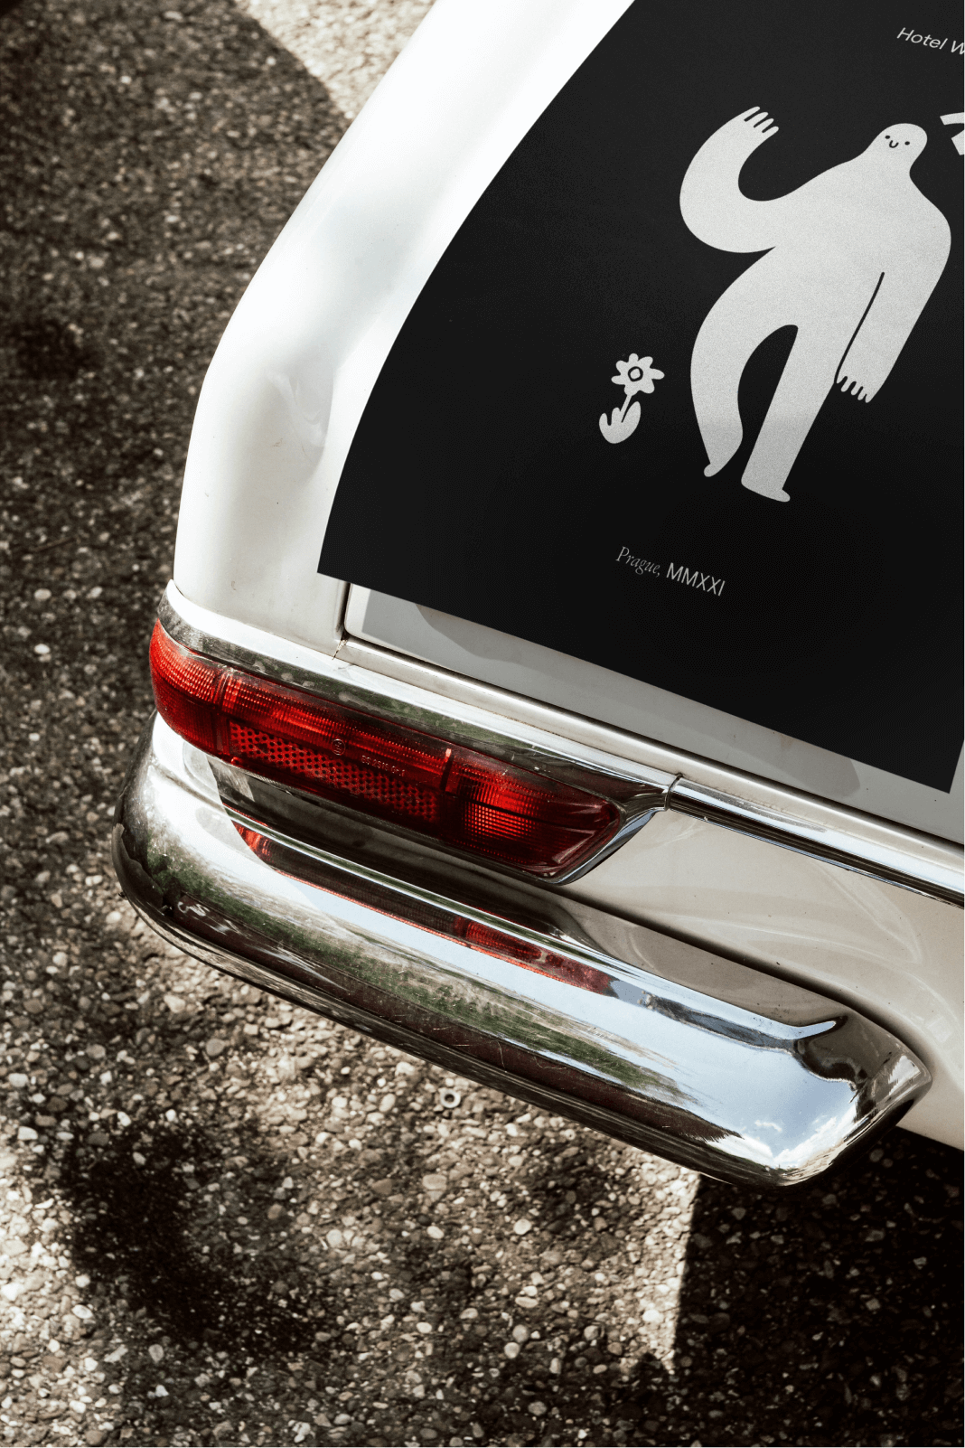
[[[686,1386],[689,1416],[720,1423],[719,1436],[702,1431],[705,1448],[765,1435],[807,1448],[961,1441],[949,1363],[962,1319],[961,1179],[961,1153],[894,1129],[787,1196],[702,1180],[674,1392]]]

